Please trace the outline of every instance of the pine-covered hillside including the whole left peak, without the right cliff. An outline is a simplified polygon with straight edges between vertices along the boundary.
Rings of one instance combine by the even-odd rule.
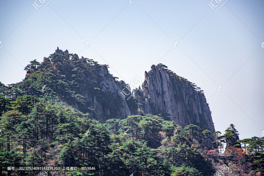
[[[233,124],[222,134],[144,114],[140,98],[118,94],[126,84],[107,65],[57,50],[31,61],[22,82],[0,82],[0,176],[38,175],[7,167],[48,164],[99,166],[49,175],[212,176],[223,165],[225,175],[264,174],[264,137],[239,140]]]

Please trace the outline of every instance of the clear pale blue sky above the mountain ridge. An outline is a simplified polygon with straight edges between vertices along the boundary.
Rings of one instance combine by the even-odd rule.
[[[240,139],[261,137],[263,7],[261,0],[0,0],[0,81],[22,81],[30,61],[57,47],[108,64],[126,83],[143,82],[163,63],[204,90],[216,131],[233,123]]]

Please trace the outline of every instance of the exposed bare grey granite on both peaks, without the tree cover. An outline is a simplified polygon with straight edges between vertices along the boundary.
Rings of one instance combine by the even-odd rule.
[[[62,51],[57,48],[55,53],[59,53],[56,58],[63,61],[65,56],[62,57],[62,55],[67,55],[69,52],[68,50]],[[76,55],[76,58],[79,57]],[[84,57],[79,58],[83,63],[86,62],[85,59]],[[43,61],[50,60],[44,57]],[[106,65],[97,64],[93,67],[94,75],[86,79],[94,87],[87,89],[85,85],[80,85],[77,93],[83,96],[87,105],[94,107],[98,114],[106,115],[106,119],[124,119],[127,116],[138,114],[162,114],[166,120],[175,121],[176,124],[182,127],[195,124],[200,126],[202,130],[211,131],[211,134],[215,132],[211,112],[204,94],[201,91],[197,91],[197,88],[187,79],[152,65],[151,70],[145,72],[145,81],[142,87],[132,92],[134,99],[138,100],[137,104],[135,104],[132,98],[129,99],[130,92],[126,92],[127,96],[122,94],[127,84],[123,81],[116,81],[113,75],[110,75]],[[116,99],[116,101],[112,102],[120,102],[118,100],[120,98],[122,100],[121,104],[116,106],[111,103],[106,104],[105,102],[111,102],[108,101],[109,97],[103,97],[103,100],[100,97],[101,101],[99,101],[94,88],[99,88],[101,91],[111,94],[111,96],[113,95],[111,99]],[[67,103],[79,109],[76,103]],[[137,106],[139,112],[137,112]],[[99,117],[98,120],[104,123],[105,118]],[[206,145],[210,146],[213,141],[213,135],[210,135]]]

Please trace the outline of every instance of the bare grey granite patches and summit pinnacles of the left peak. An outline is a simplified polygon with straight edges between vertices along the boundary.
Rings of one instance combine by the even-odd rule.
[[[54,54],[57,54],[55,58],[57,60],[60,60],[61,64],[67,64],[66,60],[70,59],[69,56],[67,57],[67,54],[69,54],[68,50],[62,51],[57,47]],[[87,63],[87,61],[83,56],[79,58],[79,56],[75,54],[75,57],[78,58],[80,61],[82,61],[82,63],[85,62]],[[51,62],[47,57],[43,58],[43,62],[45,61]],[[54,66],[54,63],[53,62],[51,63]],[[90,74],[90,76],[86,78],[88,79],[88,82],[92,86],[89,87],[89,89],[87,89],[86,85],[80,84],[78,90],[76,91],[76,94],[79,94],[82,97],[84,97],[87,107],[93,107],[96,113],[100,114],[97,120],[99,120],[101,123],[104,123],[106,119],[111,119],[111,118],[124,119],[127,116],[137,115],[138,114],[137,112],[131,113],[128,104],[126,103],[125,97],[123,97],[122,94],[120,93],[122,92],[123,87],[126,87],[125,82],[116,81],[113,75],[110,75],[106,65],[97,64],[97,65],[92,65],[92,67],[93,67],[92,69],[94,69],[93,74],[88,73],[89,72],[88,70],[86,70],[85,72],[85,74],[87,75]],[[70,70],[72,69],[73,68],[71,68]],[[62,70],[57,70],[57,72],[60,72],[60,74],[62,74],[61,71]],[[63,72],[62,75],[65,76],[72,74],[73,72],[68,71],[68,72]],[[105,102],[109,102],[109,97],[103,97],[103,98],[97,97],[97,94],[95,93],[94,89],[99,89],[100,91],[106,92],[109,95],[109,97],[111,97],[111,99],[114,100],[114,102],[121,102],[121,104],[117,105],[117,104],[105,103]],[[101,95],[99,94],[99,96]],[[99,98],[101,101],[99,101]],[[119,99],[121,99],[121,101]],[[76,102],[69,101],[68,99],[63,99],[63,98],[62,101],[80,110]]]

